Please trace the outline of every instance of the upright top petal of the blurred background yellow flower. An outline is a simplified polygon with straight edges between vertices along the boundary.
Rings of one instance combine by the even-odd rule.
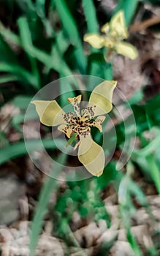
[[[123,11],[117,12],[110,20],[110,34],[115,37],[118,35],[122,39],[129,37]]]

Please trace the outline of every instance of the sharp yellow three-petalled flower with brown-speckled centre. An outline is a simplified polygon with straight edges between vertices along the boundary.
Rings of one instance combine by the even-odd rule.
[[[80,110],[82,95],[68,98],[74,112],[65,113],[56,100],[35,100],[36,110],[42,124],[58,126],[58,130],[64,132],[68,138],[77,134],[79,139],[78,159],[85,168],[94,176],[103,173],[105,165],[104,151],[99,144],[91,138],[91,127],[96,127],[102,132],[104,114],[112,110],[113,90],[115,81],[104,81],[91,92],[86,108]],[[94,119],[95,118],[95,119]]]

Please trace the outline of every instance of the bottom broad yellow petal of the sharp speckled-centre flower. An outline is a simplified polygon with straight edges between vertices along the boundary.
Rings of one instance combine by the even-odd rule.
[[[80,135],[78,159],[89,173],[97,177],[102,175],[105,165],[104,151],[99,144],[92,140],[90,133],[86,136]]]

